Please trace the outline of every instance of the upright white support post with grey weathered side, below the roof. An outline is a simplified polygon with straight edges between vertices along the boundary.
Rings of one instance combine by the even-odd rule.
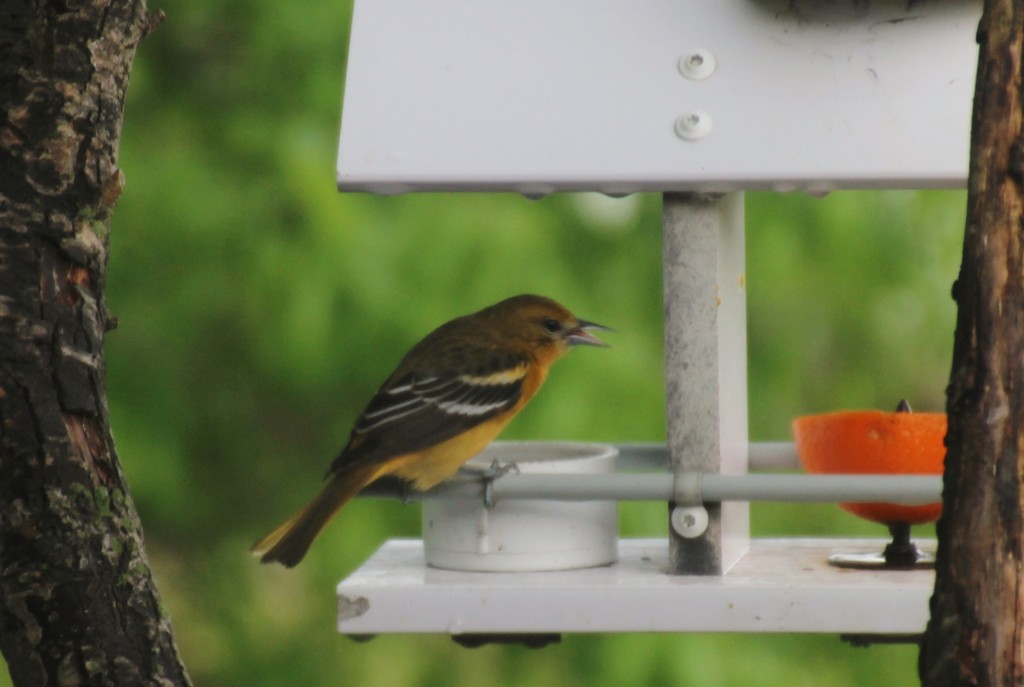
[[[743,195],[666,194],[663,224],[669,454],[681,495],[687,475],[748,471]],[[706,509],[707,525],[677,507]],[[676,574],[723,574],[750,548],[746,503],[673,503],[670,520]]]

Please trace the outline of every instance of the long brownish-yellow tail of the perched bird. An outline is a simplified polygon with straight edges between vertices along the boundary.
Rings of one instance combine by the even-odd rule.
[[[263,563],[278,562],[286,567],[295,567],[328,520],[359,489],[372,482],[376,472],[375,469],[365,469],[333,475],[305,508],[254,544],[251,549],[253,555],[259,556]]]

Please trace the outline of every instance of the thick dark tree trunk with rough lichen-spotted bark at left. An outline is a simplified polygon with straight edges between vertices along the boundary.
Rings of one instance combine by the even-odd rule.
[[[0,650],[15,685],[187,685],[114,450],[103,300],[143,0],[0,7]]]

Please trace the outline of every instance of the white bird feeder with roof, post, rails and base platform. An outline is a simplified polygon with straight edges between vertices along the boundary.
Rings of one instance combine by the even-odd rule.
[[[750,500],[921,505],[940,478],[759,474],[799,463],[792,444],[748,438],[743,191],[963,187],[980,13],[961,0],[356,0],[342,191],[665,195],[668,445],[618,446],[611,475],[503,477],[490,497],[673,508],[668,542],[620,541],[615,562],[587,569],[440,569],[422,542],[390,541],[338,586],[340,632],[923,632],[930,570],[828,564],[878,541],[750,536]],[[630,474],[640,463],[662,472]]]

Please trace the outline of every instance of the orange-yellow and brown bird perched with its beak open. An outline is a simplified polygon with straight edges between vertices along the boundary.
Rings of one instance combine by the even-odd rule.
[[[537,393],[551,364],[608,330],[536,295],[452,319],[401,358],[355,421],[321,491],[259,540],[261,562],[294,567],[352,497],[384,476],[426,490],[455,475]]]

